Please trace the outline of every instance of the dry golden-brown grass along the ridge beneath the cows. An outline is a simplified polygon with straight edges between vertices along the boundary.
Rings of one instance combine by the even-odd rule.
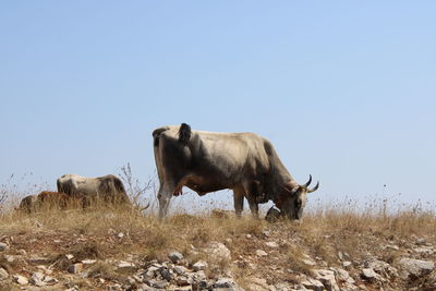
[[[265,235],[265,231],[270,234]],[[244,278],[250,276],[274,282],[294,281],[299,272],[311,274],[315,267],[303,262],[304,254],[317,264],[324,260],[330,266],[340,265],[338,252],[356,260],[364,259],[371,252],[379,259],[395,262],[402,255],[401,247],[413,244],[417,238],[436,245],[436,217],[433,213],[413,209],[386,214],[326,207],[305,214],[301,223],[282,220],[268,223],[250,215],[237,218],[228,211],[175,214],[159,221],[152,214],[125,208],[49,209],[35,214],[10,210],[0,215],[0,241],[13,238],[14,250],[50,255],[59,270],[64,270],[69,264],[64,255],[72,254],[77,262],[98,259],[88,270],[90,277],[121,280],[125,275],[105,259],[125,259],[129,254],[144,262],[167,259],[168,253],[177,250],[189,263],[207,260],[210,276],[231,270],[244,286],[249,283]],[[225,243],[232,259],[216,259],[201,252],[213,241]],[[268,248],[265,245],[268,241],[278,242],[280,247]],[[398,245],[400,250],[380,247],[388,244]],[[258,248],[267,251],[268,256],[257,257]],[[251,265],[263,268],[256,270]],[[0,266],[8,270],[16,267],[4,257],[0,257]],[[278,272],[277,268],[286,271]],[[287,272],[289,269],[293,274]]]

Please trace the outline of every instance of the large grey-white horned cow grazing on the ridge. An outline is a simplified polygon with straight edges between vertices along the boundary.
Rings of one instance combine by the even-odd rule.
[[[170,199],[187,186],[198,195],[230,189],[234,210],[243,210],[244,197],[253,216],[258,204],[272,201],[289,219],[301,219],[312,175],[299,184],[280,161],[272,144],[254,133],[193,131],[186,123],[153,132],[159,177],[159,217],[168,213]]]

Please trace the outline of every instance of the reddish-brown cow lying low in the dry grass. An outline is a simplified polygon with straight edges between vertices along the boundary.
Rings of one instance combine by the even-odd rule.
[[[78,197],[72,197],[65,193],[44,191],[38,195],[29,195],[24,197],[19,206],[19,209],[25,213],[50,209],[75,209],[82,208],[84,201]]]

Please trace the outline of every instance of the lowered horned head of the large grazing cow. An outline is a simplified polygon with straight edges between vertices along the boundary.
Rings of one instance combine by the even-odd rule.
[[[298,184],[295,181],[284,184],[282,195],[280,195],[281,197],[276,205],[289,219],[302,218],[303,209],[307,202],[307,193],[316,191],[319,186],[319,182],[317,182],[313,189],[310,189],[312,175],[310,175],[307,183],[303,185]]]

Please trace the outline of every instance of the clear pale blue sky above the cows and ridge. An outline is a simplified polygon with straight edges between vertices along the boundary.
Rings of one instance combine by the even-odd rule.
[[[320,180],[313,197],[435,202],[435,13],[434,1],[3,2],[0,182],[33,172],[55,187],[126,162],[145,180],[152,131],[186,122],[269,138],[298,181]]]

